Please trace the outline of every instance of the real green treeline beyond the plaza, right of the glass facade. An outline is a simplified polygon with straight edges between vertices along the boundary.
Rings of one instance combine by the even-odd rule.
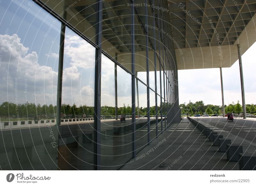
[[[186,114],[189,113],[190,115],[193,114],[204,114],[205,112],[207,114],[222,114],[222,106],[220,105],[204,105],[203,101],[196,101],[195,103],[188,103],[188,104],[180,104],[181,113]],[[240,114],[243,112],[243,107],[237,101],[235,104],[232,102],[232,104],[225,105],[225,113],[233,112],[236,114]],[[246,104],[246,112],[255,114],[256,113],[256,105],[254,104]]]

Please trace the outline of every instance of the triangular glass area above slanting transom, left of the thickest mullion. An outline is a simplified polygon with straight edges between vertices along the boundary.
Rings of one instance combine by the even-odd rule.
[[[92,42],[96,42],[96,0],[74,1],[74,0],[42,0],[61,18],[67,20],[73,27],[88,37]],[[34,6],[34,3],[31,3]]]

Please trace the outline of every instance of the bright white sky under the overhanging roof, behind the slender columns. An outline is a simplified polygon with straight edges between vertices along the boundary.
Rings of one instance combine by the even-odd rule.
[[[256,104],[256,42],[242,55],[245,104]],[[230,68],[222,68],[224,104],[237,100],[242,104],[238,60]],[[205,105],[222,105],[220,68],[178,70],[179,103],[202,100]]]

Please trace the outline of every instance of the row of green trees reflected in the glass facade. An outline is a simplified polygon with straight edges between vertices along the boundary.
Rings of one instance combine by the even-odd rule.
[[[163,103],[164,105],[164,103]],[[164,105],[167,106],[167,105]],[[34,118],[35,116],[53,118],[56,114],[56,105],[40,105],[35,103],[23,103],[23,104],[14,104],[11,102],[4,102],[0,105],[0,116],[2,118]],[[146,115],[148,112],[147,107],[136,107],[136,115]],[[160,111],[160,106],[158,106],[158,113]],[[150,115],[156,115],[156,106],[149,108]],[[123,107],[117,108],[117,115],[132,115],[132,107],[130,105],[123,105]],[[165,114],[163,109],[163,114]],[[87,105],[76,104],[62,104],[61,105],[61,117],[93,117],[94,107]],[[102,116],[115,116],[116,110],[113,106],[102,106],[101,107]]]

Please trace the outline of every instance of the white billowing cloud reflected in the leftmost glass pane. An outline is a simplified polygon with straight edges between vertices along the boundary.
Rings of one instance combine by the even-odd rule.
[[[55,105],[58,73],[52,67],[39,65],[37,52],[28,53],[29,48],[20,41],[17,34],[0,35],[0,102],[8,100],[14,103],[18,97],[19,103],[35,103],[36,100],[40,104]],[[58,63],[58,58],[48,60],[46,63]]]

